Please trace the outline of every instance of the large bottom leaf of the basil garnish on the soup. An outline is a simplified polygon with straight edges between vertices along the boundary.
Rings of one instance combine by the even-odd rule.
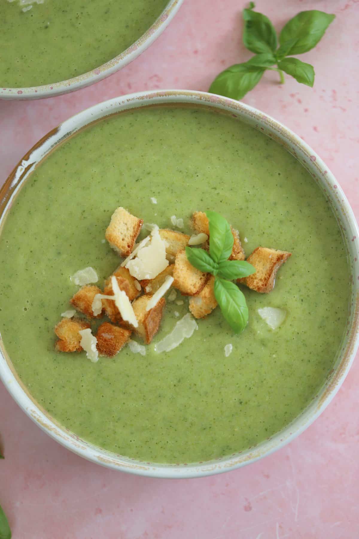
[[[216,277],[214,295],[230,327],[235,333],[241,333],[248,323],[248,307],[243,292],[234,282]]]

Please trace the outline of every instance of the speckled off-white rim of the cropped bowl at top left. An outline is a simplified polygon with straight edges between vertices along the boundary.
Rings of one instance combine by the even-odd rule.
[[[98,82],[112,73],[120,70],[122,67],[135,60],[154,40],[160,36],[166,26],[171,22],[175,14],[180,8],[183,0],[170,0],[166,8],[163,10],[158,19],[152,24],[143,36],[137,39],[128,49],[118,54],[112,60],[109,60],[100,67],[96,67],[92,71],[83,73],[78,77],[67,79],[53,84],[44,86],[31,86],[29,88],[0,88],[0,99],[41,99],[50,98],[54,95],[67,94],[74,92],[80,88],[90,86]]]

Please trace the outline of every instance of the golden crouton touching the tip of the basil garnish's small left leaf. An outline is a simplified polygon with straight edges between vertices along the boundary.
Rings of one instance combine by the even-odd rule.
[[[179,251],[173,268],[173,287],[185,296],[195,296],[205,287],[209,273],[203,273],[189,263],[186,251]]]

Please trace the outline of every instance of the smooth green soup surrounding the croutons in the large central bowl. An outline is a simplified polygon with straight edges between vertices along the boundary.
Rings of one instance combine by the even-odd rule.
[[[144,357],[128,347],[95,364],[56,353],[53,328],[78,289],[70,275],[93,266],[102,286],[119,263],[103,243],[119,205],[160,227],[182,217],[185,232],[193,211],[214,209],[247,255],[258,245],[293,254],[270,294],[242,287],[250,317],[240,335],[216,308],[178,348],[156,353],[175,311],[188,312],[184,298],[167,302]],[[297,417],[333,367],[349,301],[341,233],[308,172],[244,123],[182,107],[113,116],[48,156],[6,219],[0,275],[1,334],[33,398],[98,446],[167,463],[245,450]],[[278,329],[259,317],[265,306],[286,310]]]

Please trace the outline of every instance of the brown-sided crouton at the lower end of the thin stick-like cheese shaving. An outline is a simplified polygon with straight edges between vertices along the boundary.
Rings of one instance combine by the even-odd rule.
[[[138,328],[135,328],[134,331],[143,338],[146,344],[150,344],[153,336],[156,335],[166,305],[165,298],[161,298],[152,309],[146,310],[147,303],[151,298],[151,295],[146,294],[132,303],[138,321]]]

